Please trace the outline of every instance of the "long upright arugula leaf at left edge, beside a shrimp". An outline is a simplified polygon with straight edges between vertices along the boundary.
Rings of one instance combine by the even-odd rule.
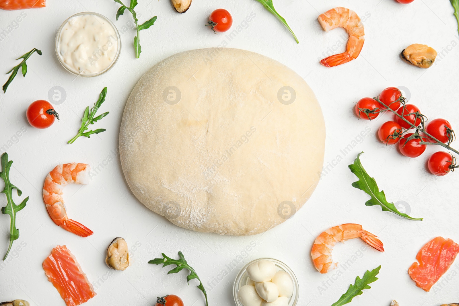
[[[1,213],[4,215],[10,215],[11,223],[10,223],[10,246],[6,251],[5,257],[3,260],[8,257],[8,253],[10,253],[11,246],[13,245],[13,241],[19,238],[19,229],[16,228],[16,213],[20,211],[22,208],[26,206],[28,201],[28,197],[25,198],[21,204],[16,205],[13,201],[13,189],[17,190],[17,195],[21,196],[22,191],[18,189],[15,185],[11,184],[10,182],[10,168],[13,161],[8,161],[8,154],[5,152],[2,154],[1,158],[1,168],[2,171],[0,172],[0,178],[3,178],[3,182],[5,182],[5,188],[1,193],[6,195],[6,203],[5,207],[1,208]]]

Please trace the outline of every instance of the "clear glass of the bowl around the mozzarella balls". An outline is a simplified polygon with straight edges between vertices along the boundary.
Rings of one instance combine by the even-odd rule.
[[[243,306],[241,302],[239,301],[239,299],[237,298],[237,292],[242,286],[247,284],[247,279],[248,279],[248,276],[246,273],[247,267],[250,266],[252,263],[255,263],[260,260],[272,261],[274,262],[274,264],[279,270],[285,271],[286,273],[290,275],[291,279],[293,280],[293,294],[288,301],[288,306],[296,306],[299,295],[300,295],[300,287],[298,285],[297,277],[295,276],[295,273],[293,273],[291,268],[289,268],[285,263],[283,263],[282,261],[278,261],[277,259],[274,259],[274,258],[258,258],[246,264],[244,267],[242,267],[241,271],[237,273],[237,276],[236,276],[236,279],[233,285],[233,296],[234,296],[234,301],[236,303],[236,306]]]

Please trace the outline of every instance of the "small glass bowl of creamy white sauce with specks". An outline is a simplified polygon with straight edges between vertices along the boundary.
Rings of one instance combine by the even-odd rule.
[[[95,77],[110,70],[118,61],[121,39],[108,18],[95,12],[69,17],[57,31],[56,56],[74,75]]]

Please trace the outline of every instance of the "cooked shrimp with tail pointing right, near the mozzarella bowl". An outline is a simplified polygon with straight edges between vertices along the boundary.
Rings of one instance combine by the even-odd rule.
[[[335,269],[338,263],[333,262],[331,259],[331,251],[336,242],[357,237],[360,237],[376,250],[384,252],[382,242],[374,234],[362,229],[362,225],[354,223],[341,224],[327,229],[315,239],[311,256],[317,271],[327,273]]]

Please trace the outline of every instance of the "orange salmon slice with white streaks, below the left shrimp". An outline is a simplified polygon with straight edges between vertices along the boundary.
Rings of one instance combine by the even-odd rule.
[[[58,245],[51,251],[43,261],[43,269],[67,306],[80,305],[96,295],[75,256],[65,245]]]

